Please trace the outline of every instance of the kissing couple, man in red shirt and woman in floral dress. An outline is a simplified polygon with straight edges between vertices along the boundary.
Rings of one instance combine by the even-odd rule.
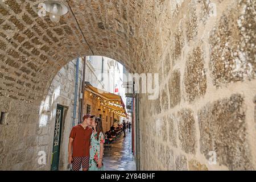
[[[102,171],[105,136],[101,118],[86,114],[69,135],[68,163],[73,171]]]

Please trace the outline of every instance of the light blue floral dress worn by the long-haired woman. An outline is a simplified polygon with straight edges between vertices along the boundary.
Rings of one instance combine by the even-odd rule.
[[[104,166],[101,168],[97,167],[97,162],[100,159],[100,144],[105,143],[105,138],[103,133],[98,135],[97,140],[97,132],[92,133],[90,136],[90,162],[89,162],[89,171],[104,171]],[[103,164],[103,162],[102,162]]]

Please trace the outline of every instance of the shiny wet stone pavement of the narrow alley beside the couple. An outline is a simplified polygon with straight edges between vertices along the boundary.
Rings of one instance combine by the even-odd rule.
[[[126,131],[126,137],[112,142],[110,148],[104,149],[105,171],[135,171],[136,164],[131,150],[131,132]]]

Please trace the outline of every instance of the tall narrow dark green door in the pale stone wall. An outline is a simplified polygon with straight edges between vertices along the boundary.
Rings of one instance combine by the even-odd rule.
[[[52,164],[51,170],[57,171],[59,169],[59,158],[60,158],[60,139],[61,139],[61,128],[63,123],[63,110],[64,108],[57,105],[53,149],[52,149]]]

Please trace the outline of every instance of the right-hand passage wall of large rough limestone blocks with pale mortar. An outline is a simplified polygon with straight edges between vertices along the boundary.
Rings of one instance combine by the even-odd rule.
[[[256,169],[255,8],[164,1],[159,98],[140,95],[141,169]]]

